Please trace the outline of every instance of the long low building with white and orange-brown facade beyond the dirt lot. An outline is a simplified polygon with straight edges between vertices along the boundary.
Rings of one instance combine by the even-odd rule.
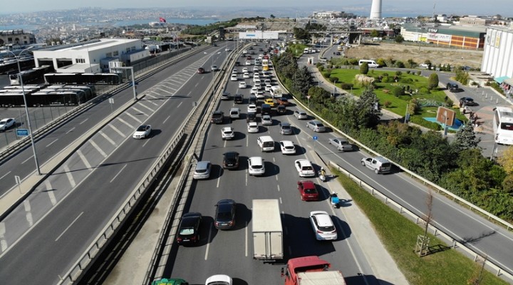
[[[404,25],[401,35],[405,41],[433,43],[436,46],[479,49],[484,47],[484,26],[415,26]]]

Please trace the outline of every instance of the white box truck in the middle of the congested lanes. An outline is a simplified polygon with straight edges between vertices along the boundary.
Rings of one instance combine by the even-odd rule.
[[[254,199],[252,211],[253,259],[264,263],[283,259],[283,228],[278,199]]]

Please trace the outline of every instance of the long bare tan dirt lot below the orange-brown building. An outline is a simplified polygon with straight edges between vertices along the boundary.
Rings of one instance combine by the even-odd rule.
[[[470,66],[480,68],[483,51],[436,46],[414,46],[395,43],[353,46],[346,50],[348,58],[393,58],[406,62],[413,59],[416,63],[450,64],[451,66]]]

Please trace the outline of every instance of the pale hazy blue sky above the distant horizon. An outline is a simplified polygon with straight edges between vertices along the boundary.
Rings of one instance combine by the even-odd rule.
[[[1,14],[13,12],[32,12],[57,9],[75,9],[81,7],[114,8],[158,8],[165,7],[244,7],[259,9],[262,7],[296,7],[297,9],[311,9],[311,11],[348,11],[359,15],[370,12],[372,0],[4,0],[1,5]],[[398,16],[403,14],[430,15],[435,7],[435,14],[457,15],[495,15],[513,16],[512,0],[383,0],[383,14]],[[293,8],[294,9],[294,8]],[[367,12],[368,11],[368,12]]]

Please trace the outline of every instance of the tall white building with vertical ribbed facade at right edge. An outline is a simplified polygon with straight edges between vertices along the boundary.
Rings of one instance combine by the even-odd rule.
[[[513,94],[513,31],[488,28],[481,71],[491,75],[507,94]]]

